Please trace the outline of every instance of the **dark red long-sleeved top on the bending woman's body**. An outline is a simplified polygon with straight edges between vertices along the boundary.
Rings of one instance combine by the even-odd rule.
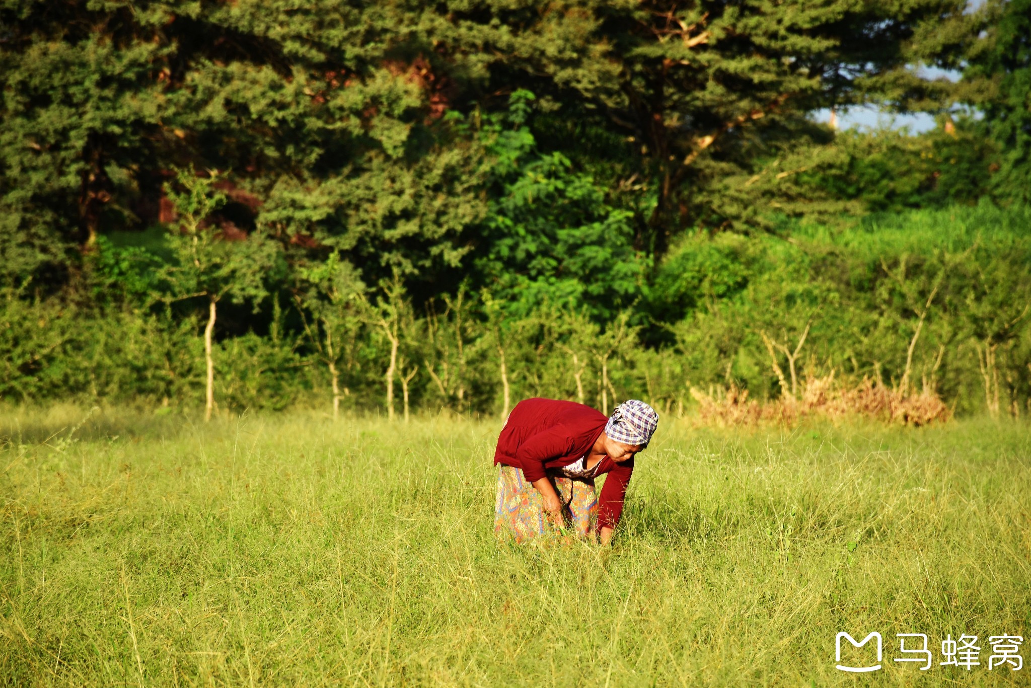
[[[525,399],[516,404],[498,436],[494,463],[514,466],[528,482],[544,478],[548,468],[573,463],[588,453],[605,429],[608,418],[581,403],[557,399]],[[634,470],[634,460],[616,463],[607,456],[595,477],[605,479],[598,499],[598,527],[620,522],[623,498]]]

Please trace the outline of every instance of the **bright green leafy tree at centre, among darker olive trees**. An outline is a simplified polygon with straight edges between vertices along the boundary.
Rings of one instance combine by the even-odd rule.
[[[605,190],[564,155],[536,150],[527,123],[533,99],[517,91],[507,116],[480,131],[496,160],[497,193],[475,271],[512,317],[547,302],[606,320],[640,293],[645,276],[632,214],[611,207]]]

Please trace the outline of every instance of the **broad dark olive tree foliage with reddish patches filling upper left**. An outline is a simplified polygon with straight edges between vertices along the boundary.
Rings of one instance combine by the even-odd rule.
[[[240,228],[332,245],[370,282],[454,267],[485,204],[483,157],[441,122],[454,80],[427,32],[445,17],[342,0],[0,5],[0,269],[73,272],[98,232],[157,221],[167,170],[191,163],[221,170]]]

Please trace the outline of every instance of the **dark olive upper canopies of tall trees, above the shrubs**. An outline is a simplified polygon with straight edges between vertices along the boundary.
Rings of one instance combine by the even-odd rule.
[[[521,88],[538,141],[661,255],[690,224],[811,207],[802,173],[833,158],[814,108],[943,107],[947,85],[909,67],[955,63],[980,21],[964,6],[4,0],[5,269],[167,220],[162,184],[189,164],[226,175],[224,231],[330,247],[371,276],[458,265],[484,240],[491,153],[443,116],[478,122]]]

